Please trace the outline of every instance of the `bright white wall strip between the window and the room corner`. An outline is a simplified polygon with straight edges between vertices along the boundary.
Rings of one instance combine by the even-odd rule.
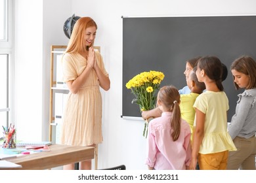
[[[43,1],[14,3],[14,123],[18,139],[40,140],[45,115],[42,113]]]

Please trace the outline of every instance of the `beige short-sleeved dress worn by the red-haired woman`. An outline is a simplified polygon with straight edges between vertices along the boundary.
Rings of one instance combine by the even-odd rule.
[[[108,76],[99,52],[96,61],[104,75]],[[87,66],[87,59],[80,54],[64,54],[62,69],[64,81],[75,80]],[[61,143],[89,146],[102,142],[102,98],[95,70],[91,70],[83,87],[76,93],[68,93],[64,110]]]

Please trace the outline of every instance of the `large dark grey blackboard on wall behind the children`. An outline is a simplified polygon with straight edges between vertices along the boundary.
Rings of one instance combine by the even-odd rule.
[[[161,86],[186,86],[186,60],[217,56],[228,67],[223,82],[229,99],[228,121],[235,114],[238,93],[229,71],[234,59],[256,58],[256,16],[123,17],[123,101],[122,117],[141,117],[139,106],[125,84],[144,71],[165,74]]]

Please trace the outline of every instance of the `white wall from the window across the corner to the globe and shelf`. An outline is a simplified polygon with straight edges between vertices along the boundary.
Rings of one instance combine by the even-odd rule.
[[[67,44],[64,21],[70,0],[14,0],[14,122],[17,138],[49,138],[51,44]]]

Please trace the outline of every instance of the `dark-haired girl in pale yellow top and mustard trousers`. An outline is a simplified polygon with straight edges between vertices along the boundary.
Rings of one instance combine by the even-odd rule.
[[[227,131],[228,98],[223,92],[223,67],[219,58],[206,56],[198,60],[196,76],[205,83],[206,92],[194,103],[196,109],[192,161],[190,169],[226,169],[228,151],[236,150]]]

